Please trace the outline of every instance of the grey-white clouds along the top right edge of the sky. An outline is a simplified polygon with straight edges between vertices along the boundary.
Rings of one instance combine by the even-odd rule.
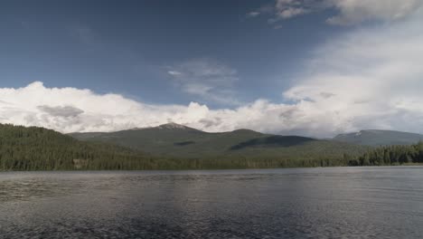
[[[249,16],[270,14],[270,24],[302,14],[335,9],[328,24],[360,24],[365,21],[395,21],[415,14],[423,5],[421,0],[276,0],[269,7],[260,7]],[[253,15],[252,15],[253,14]]]

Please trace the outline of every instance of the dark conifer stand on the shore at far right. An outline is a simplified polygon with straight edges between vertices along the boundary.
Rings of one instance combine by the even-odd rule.
[[[416,145],[375,148],[350,160],[350,166],[389,166],[423,163],[423,142]]]

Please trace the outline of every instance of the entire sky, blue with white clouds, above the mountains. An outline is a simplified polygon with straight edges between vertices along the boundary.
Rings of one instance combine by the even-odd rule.
[[[423,133],[423,0],[0,2],[0,122]]]

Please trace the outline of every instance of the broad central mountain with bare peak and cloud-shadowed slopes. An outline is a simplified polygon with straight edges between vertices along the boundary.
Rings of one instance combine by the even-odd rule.
[[[263,134],[249,129],[209,133],[174,123],[109,133],[72,133],[71,136],[176,158],[339,159],[344,154],[356,156],[367,149],[333,140]]]

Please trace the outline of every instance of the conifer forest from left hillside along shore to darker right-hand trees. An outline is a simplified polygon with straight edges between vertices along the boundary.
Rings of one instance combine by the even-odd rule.
[[[350,159],[324,154],[315,157],[251,157],[240,154],[224,158],[155,157],[105,142],[80,141],[50,129],[0,124],[0,170],[326,167],[347,166]]]

